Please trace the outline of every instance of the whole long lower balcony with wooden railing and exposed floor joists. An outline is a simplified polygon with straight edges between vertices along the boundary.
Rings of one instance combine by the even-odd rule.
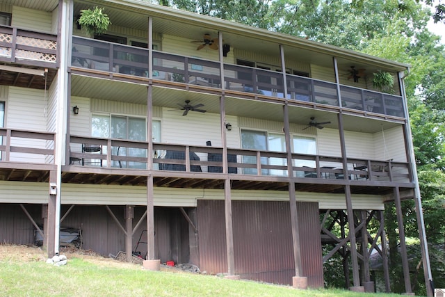
[[[351,158],[343,162],[339,156],[292,154],[289,179],[285,152],[229,148],[223,170],[222,147],[153,143],[148,152],[148,146],[143,141],[70,136],[63,182],[145,186],[152,175],[155,186],[224,188],[228,176],[234,189],[287,191],[292,179],[298,191],[343,193],[349,184],[353,193],[382,195],[394,186],[413,187],[406,162]]]

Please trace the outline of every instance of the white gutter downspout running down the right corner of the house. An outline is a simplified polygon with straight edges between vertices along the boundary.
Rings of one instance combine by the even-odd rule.
[[[405,127],[405,135],[407,136],[407,146],[408,150],[410,151],[410,166],[412,170],[412,179],[415,185],[414,188],[414,202],[416,205],[416,217],[417,217],[417,225],[419,228],[419,238],[421,242],[421,253],[422,253],[422,264],[423,264],[423,275],[425,278],[425,285],[426,285],[426,294],[427,296],[433,296],[434,295],[434,284],[432,282],[432,274],[431,274],[431,266],[430,266],[430,255],[428,254],[428,243],[426,241],[426,232],[425,232],[425,222],[423,220],[423,209],[422,209],[422,203],[421,203],[421,193],[420,193],[420,187],[419,187],[419,179],[417,177],[417,168],[416,168],[416,158],[414,155],[414,145],[412,143],[412,134],[411,134],[411,125],[410,125],[410,114],[408,113],[408,102],[406,98],[405,93],[405,83],[404,79],[410,75],[410,68],[407,68],[407,74],[403,77],[401,76],[401,72],[398,72],[398,79],[400,81],[400,88],[402,92],[403,97],[403,108],[405,109],[405,117],[407,119]]]

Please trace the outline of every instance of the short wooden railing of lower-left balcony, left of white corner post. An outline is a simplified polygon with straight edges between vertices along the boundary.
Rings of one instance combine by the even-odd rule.
[[[0,164],[1,161],[54,164],[55,137],[51,132],[0,128]]]

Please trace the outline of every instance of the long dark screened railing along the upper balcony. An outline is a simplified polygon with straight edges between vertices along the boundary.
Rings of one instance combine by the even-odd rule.
[[[225,63],[223,80],[219,62],[153,51],[153,73],[149,76],[148,49],[76,36],[73,36],[72,43],[72,66],[75,67],[207,88],[225,86],[225,90],[234,92],[284,98],[284,77],[281,72]],[[336,83],[293,74],[286,74],[286,86],[287,99],[291,101],[313,102],[402,118],[405,116],[401,96],[343,85],[340,86],[339,94]]]

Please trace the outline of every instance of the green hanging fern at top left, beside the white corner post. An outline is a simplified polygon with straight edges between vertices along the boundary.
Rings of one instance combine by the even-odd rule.
[[[100,35],[108,30],[110,18],[103,12],[104,8],[83,9],[77,21],[90,35]]]

